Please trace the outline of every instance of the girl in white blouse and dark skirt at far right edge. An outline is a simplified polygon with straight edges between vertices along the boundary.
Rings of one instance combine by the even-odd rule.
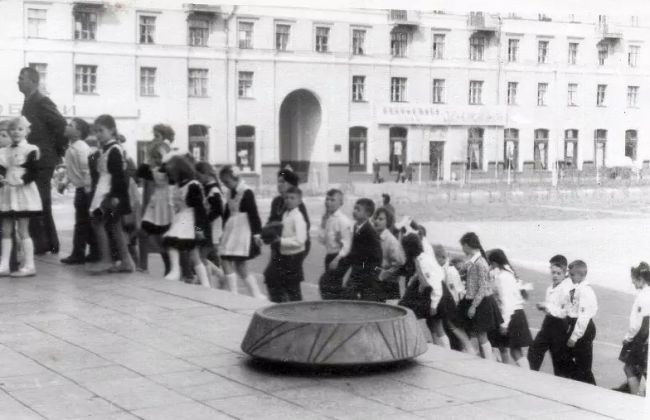
[[[630,326],[623,338],[619,360],[625,363],[623,371],[627,382],[617,391],[643,395],[641,379],[648,377],[648,320],[650,317],[650,265],[645,262],[632,267],[632,283],[638,294],[630,311]]]

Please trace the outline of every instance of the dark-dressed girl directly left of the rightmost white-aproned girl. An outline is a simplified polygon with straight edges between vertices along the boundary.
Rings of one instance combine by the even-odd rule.
[[[206,241],[201,257],[208,269],[208,275],[213,282],[213,287],[223,289],[225,285],[221,284],[221,280],[224,273],[218,252],[219,242],[223,235],[223,214],[225,211],[223,191],[219,184],[219,176],[211,164],[198,162],[196,164],[196,174],[199,182],[203,185],[208,222],[210,223],[208,232],[210,240]]]

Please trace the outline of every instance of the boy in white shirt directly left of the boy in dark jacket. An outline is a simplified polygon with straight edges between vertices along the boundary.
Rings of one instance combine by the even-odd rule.
[[[321,298],[343,298],[343,277],[346,266],[341,264],[352,246],[352,221],[341,211],[343,193],[332,189],[325,197],[325,214],[321,220],[318,240],[325,245],[325,272],[318,287]]]

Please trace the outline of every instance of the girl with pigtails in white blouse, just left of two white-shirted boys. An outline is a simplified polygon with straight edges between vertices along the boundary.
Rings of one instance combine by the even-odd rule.
[[[511,356],[517,366],[529,369],[528,359],[522,349],[530,346],[533,337],[515,272],[503,250],[493,249],[487,253],[487,257],[492,268],[490,274],[494,279],[495,297],[503,317],[499,329],[489,333],[490,342],[499,349],[503,363],[507,363]]]

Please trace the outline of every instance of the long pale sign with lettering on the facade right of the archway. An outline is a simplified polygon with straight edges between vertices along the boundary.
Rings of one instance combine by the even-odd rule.
[[[379,124],[503,126],[505,107],[389,103],[377,106]]]

